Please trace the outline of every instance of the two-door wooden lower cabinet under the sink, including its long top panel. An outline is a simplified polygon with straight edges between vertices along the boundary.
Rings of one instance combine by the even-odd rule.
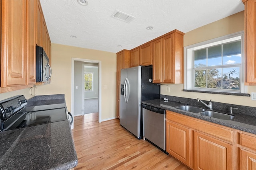
[[[166,111],[166,151],[194,170],[238,169],[235,134],[232,128]]]

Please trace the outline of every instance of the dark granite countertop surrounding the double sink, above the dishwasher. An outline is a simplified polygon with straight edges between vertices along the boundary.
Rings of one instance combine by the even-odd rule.
[[[192,112],[183,111],[183,110],[175,108],[177,106],[186,105],[186,103],[181,103],[181,102],[176,102],[176,101],[164,101],[163,99],[156,99],[156,100],[143,101],[142,104],[159,107],[162,109],[180,113],[182,115],[195,117],[197,119],[209,121],[212,123],[216,123],[218,125],[223,125],[226,127],[231,127],[234,129],[248,132],[248,133],[256,134],[256,116],[253,116],[253,115],[233,113],[232,115],[234,115],[235,117],[232,120],[222,120],[222,119],[216,119],[216,118],[202,117],[202,116],[198,115],[198,113],[192,113]],[[191,104],[189,104],[189,105],[191,105]],[[198,106],[196,106],[196,107],[198,107]],[[218,112],[220,112],[220,111],[218,111]],[[221,113],[223,113],[223,112],[221,112]]]

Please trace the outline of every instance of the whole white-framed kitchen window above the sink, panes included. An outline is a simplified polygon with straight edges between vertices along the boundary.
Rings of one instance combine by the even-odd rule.
[[[245,93],[243,32],[184,48],[185,90]]]

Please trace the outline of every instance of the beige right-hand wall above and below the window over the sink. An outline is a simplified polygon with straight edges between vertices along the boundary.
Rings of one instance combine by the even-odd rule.
[[[185,33],[184,47],[238,31],[244,31],[244,11]],[[256,107],[256,101],[250,97],[183,92],[183,84],[169,84],[168,87],[171,89],[170,92],[167,92],[166,86],[161,86],[161,94]],[[256,86],[248,86],[248,93],[251,92],[256,92]]]

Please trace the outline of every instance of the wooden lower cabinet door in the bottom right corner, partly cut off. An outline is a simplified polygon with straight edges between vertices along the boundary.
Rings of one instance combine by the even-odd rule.
[[[241,164],[240,170],[256,170],[256,153],[240,149]]]

